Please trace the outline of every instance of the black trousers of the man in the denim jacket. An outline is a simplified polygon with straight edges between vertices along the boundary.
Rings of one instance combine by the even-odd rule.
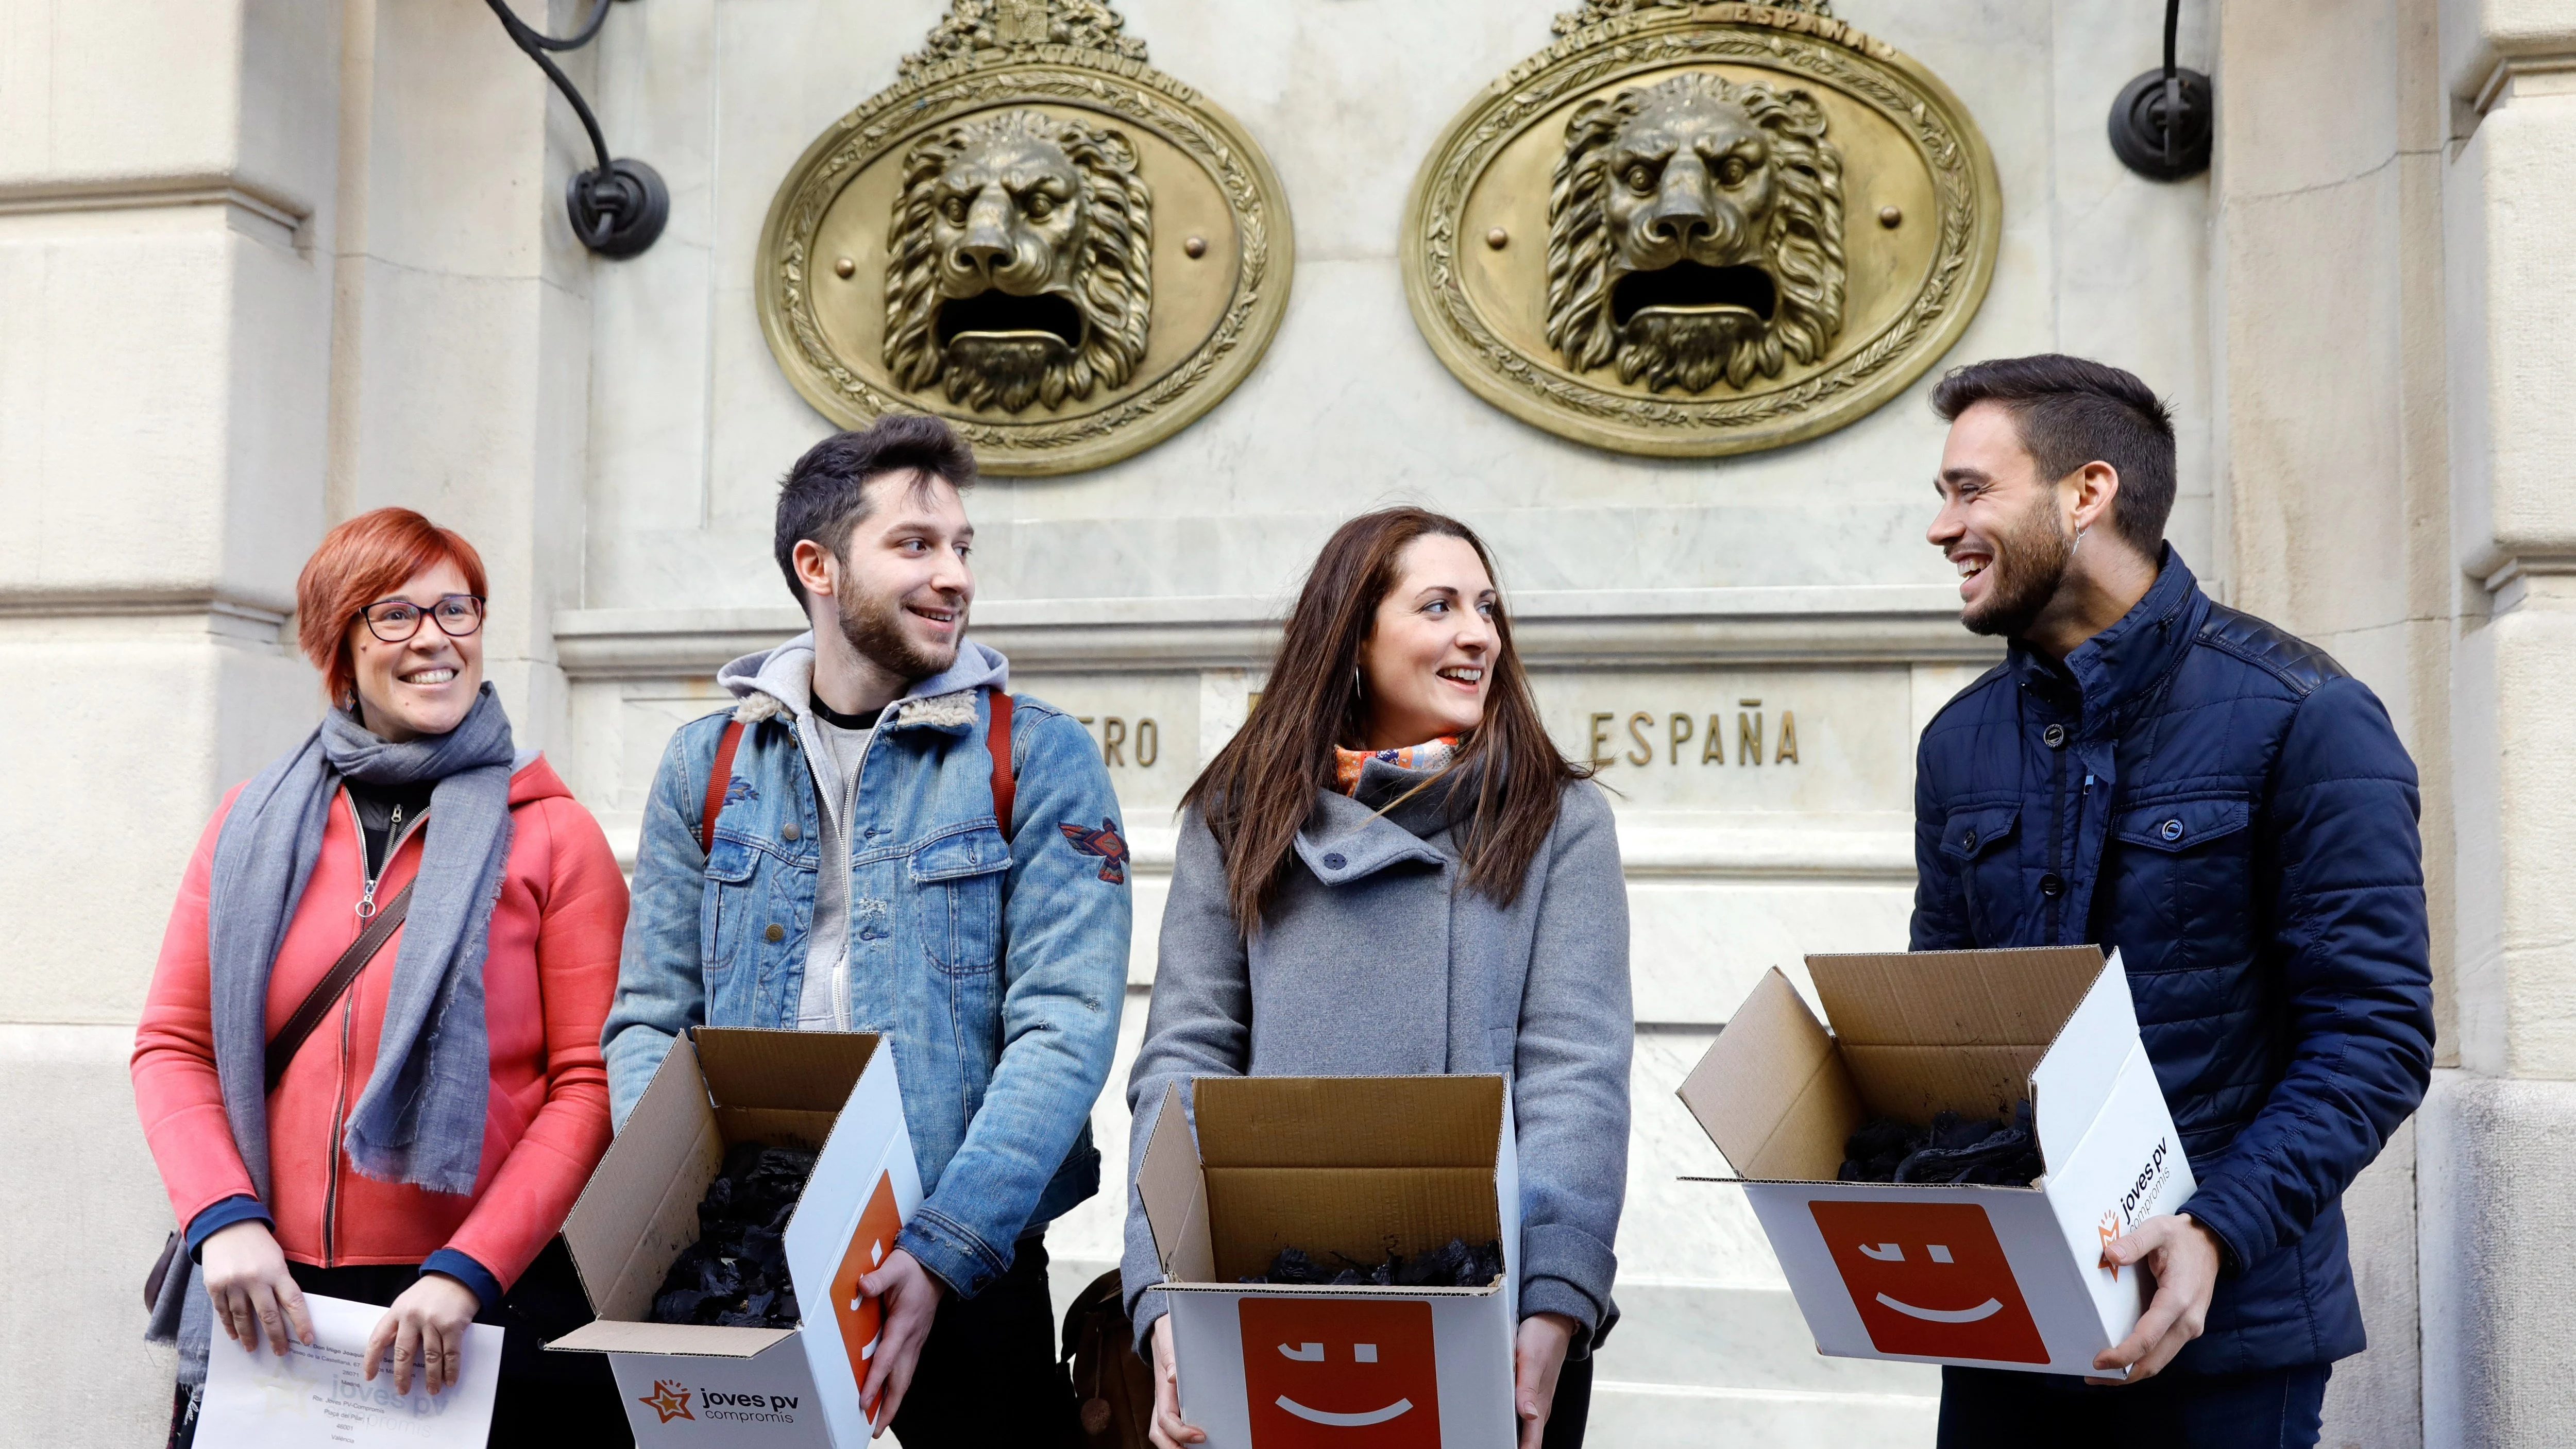
[[[948,1295],[894,1410],[904,1449],[1079,1449],[1074,1385],[1056,1361],[1046,1238],[1028,1235],[1010,1271],[974,1297]]]

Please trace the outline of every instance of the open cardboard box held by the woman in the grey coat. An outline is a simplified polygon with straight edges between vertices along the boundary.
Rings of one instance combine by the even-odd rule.
[[[1520,1179],[1499,1076],[1200,1076],[1164,1091],[1136,1194],[1162,1259],[1180,1405],[1208,1449],[1512,1444]],[[1502,1241],[1481,1287],[1280,1287],[1319,1264]]]

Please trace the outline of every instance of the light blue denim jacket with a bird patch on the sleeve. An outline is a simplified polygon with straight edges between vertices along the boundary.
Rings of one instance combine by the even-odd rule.
[[[801,669],[781,669],[793,651]],[[969,641],[891,705],[850,818],[848,1019],[894,1045],[925,1189],[899,1246],[966,1297],[1025,1230],[1100,1189],[1090,1112],[1128,963],[1126,831],[1090,731],[1012,695],[1015,808],[1007,831],[994,821],[987,685],[1007,669]],[[822,857],[796,736],[809,677],[811,636],[737,659],[721,679],[742,703],[662,754],[600,1035],[618,1125],[688,1027],[796,1027]],[[701,852],[726,718],[744,731]]]

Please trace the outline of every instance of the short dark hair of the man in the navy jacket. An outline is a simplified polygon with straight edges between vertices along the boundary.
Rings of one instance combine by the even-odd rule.
[[[2156,389],[2136,373],[2063,353],[1968,363],[1932,386],[1932,412],[1942,422],[1958,422],[1981,401],[2012,414],[2040,481],[2110,463],[2120,474],[2110,525],[2156,558],[2174,512],[2174,409]]]

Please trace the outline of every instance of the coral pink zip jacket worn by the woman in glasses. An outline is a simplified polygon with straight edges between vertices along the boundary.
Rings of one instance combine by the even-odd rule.
[[[206,1001],[206,883],[232,795],[206,824],[180,880],[134,1035],[134,1104],[180,1225],[252,1192],[224,1122]],[[435,811],[422,821],[435,829]],[[474,1194],[361,1176],[340,1148],[348,1109],[376,1068],[386,986],[402,950],[397,929],[268,1096],[265,1207],[276,1217],[278,1246],[299,1264],[417,1264],[438,1248],[456,1248],[507,1287],[564,1225],[590,1168],[608,1150],[600,1022],[618,983],[626,880],[598,821],[544,759],[510,777],[510,860],[484,957],[492,1104]],[[415,831],[394,847],[376,898],[392,901],[417,870]],[[358,939],[355,903],[363,891],[366,849],[343,793],[332,800],[322,854],[268,973],[270,1037]]]

